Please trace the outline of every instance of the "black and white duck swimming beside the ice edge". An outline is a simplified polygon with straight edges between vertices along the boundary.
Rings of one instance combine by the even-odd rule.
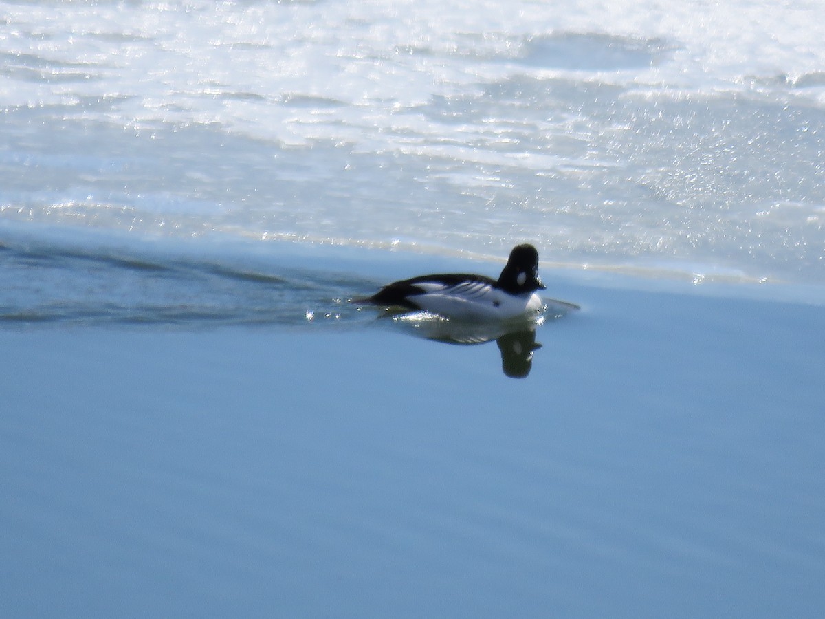
[[[497,280],[466,273],[422,275],[394,281],[360,301],[448,320],[502,321],[540,313],[544,301],[537,291],[545,288],[539,277],[539,252],[523,243],[512,248]]]

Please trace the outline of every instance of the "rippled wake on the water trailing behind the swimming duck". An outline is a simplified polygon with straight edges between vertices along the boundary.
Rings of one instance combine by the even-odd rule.
[[[340,273],[216,255],[3,241],[0,259],[0,324],[7,327],[340,324],[360,319],[347,300],[374,286]]]

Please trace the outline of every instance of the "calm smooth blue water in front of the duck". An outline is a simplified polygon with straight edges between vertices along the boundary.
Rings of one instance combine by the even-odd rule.
[[[526,379],[375,327],[0,333],[6,612],[817,616],[821,308],[563,287]]]

